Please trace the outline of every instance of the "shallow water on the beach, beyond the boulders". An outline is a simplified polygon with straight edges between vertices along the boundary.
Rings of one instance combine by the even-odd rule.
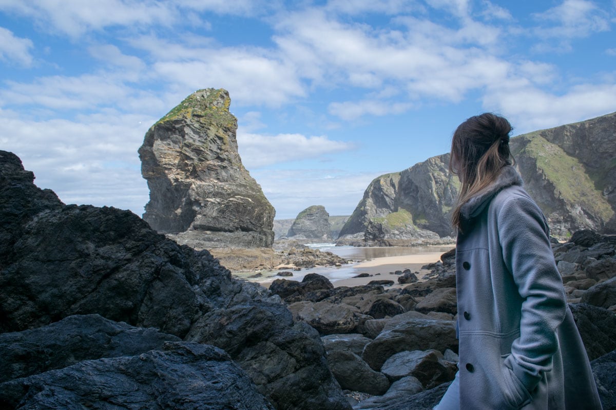
[[[347,261],[353,261],[353,263],[342,265],[341,267],[327,266],[327,267],[312,267],[304,268],[302,270],[293,270],[292,277],[284,277],[286,279],[301,281],[307,274],[319,274],[328,278],[331,282],[336,280],[348,279],[365,272],[366,269],[357,267],[359,261],[366,261],[374,258],[386,258],[388,256],[405,256],[422,253],[445,253],[452,249],[452,245],[447,246],[384,246],[384,247],[371,247],[371,248],[359,248],[355,246],[336,246],[334,243],[312,243],[309,244],[310,248],[318,249],[322,252],[331,252],[337,254],[341,258],[347,259]],[[436,262],[436,260],[434,261]],[[411,268],[412,264],[408,267]],[[382,279],[389,279],[389,272],[391,266],[384,265],[383,271],[380,272]],[[371,268],[374,269],[374,268]],[[404,267],[400,266],[396,269],[403,270]],[[269,285],[277,278],[282,278],[277,274],[280,270],[263,270],[260,272],[261,276],[254,276],[254,273],[233,273],[233,276],[238,278],[244,278],[250,282],[261,283],[262,285]],[[375,277],[374,279],[379,279]]]

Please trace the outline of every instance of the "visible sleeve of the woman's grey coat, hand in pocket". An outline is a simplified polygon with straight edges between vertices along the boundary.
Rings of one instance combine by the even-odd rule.
[[[567,309],[562,278],[549,242],[549,229],[537,204],[527,197],[507,200],[498,212],[503,260],[522,298],[520,336],[507,365],[532,392],[552,369],[558,349],[556,329]]]

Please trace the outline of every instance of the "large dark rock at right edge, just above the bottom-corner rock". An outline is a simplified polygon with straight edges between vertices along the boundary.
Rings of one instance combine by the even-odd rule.
[[[590,360],[616,349],[616,315],[613,312],[583,303],[569,307]]]

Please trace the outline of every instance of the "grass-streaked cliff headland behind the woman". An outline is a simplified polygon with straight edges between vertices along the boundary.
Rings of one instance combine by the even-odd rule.
[[[511,151],[553,235],[616,232],[616,112],[517,136]],[[413,245],[452,235],[450,213],[460,183],[448,162],[444,154],[376,178],[337,242]]]

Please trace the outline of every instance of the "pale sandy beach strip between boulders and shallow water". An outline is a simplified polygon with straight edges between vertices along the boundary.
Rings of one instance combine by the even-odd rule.
[[[299,280],[301,281],[304,275],[310,274],[312,272],[323,274],[325,276],[330,277],[331,283],[334,287],[338,286],[361,286],[367,285],[371,280],[393,280],[394,285],[387,286],[387,288],[400,288],[406,285],[400,285],[397,281],[398,275],[395,275],[394,272],[396,270],[405,270],[410,269],[411,272],[419,272],[417,277],[419,280],[423,277],[423,275],[427,274],[428,270],[422,270],[421,267],[425,264],[436,262],[440,260],[440,255],[443,252],[428,252],[428,253],[417,253],[417,254],[409,254],[403,256],[386,256],[383,258],[373,258],[367,261],[358,262],[355,264],[349,264],[344,266],[344,269],[348,272],[347,277],[338,278],[336,277],[336,268],[330,267],[328,268],[331,271],[331,277],[326,272],[322,272],[322,269],[326,268],[316,268],[316,269],[302,269],[299,272],[293,272],[293,277],[284,277],[289,280]],[[359,274],[369,274],[368,277],[355,278],[354,276]],[[261,278],[249,278],[246,274],[237,275],[237,277],[247,278],[248,280],[259,283],[260,285],[268,288],[269,285],[274,282],[276,279],[280,279],[282,277],[275,276],[274,274],[270,276],[264,276]]]

